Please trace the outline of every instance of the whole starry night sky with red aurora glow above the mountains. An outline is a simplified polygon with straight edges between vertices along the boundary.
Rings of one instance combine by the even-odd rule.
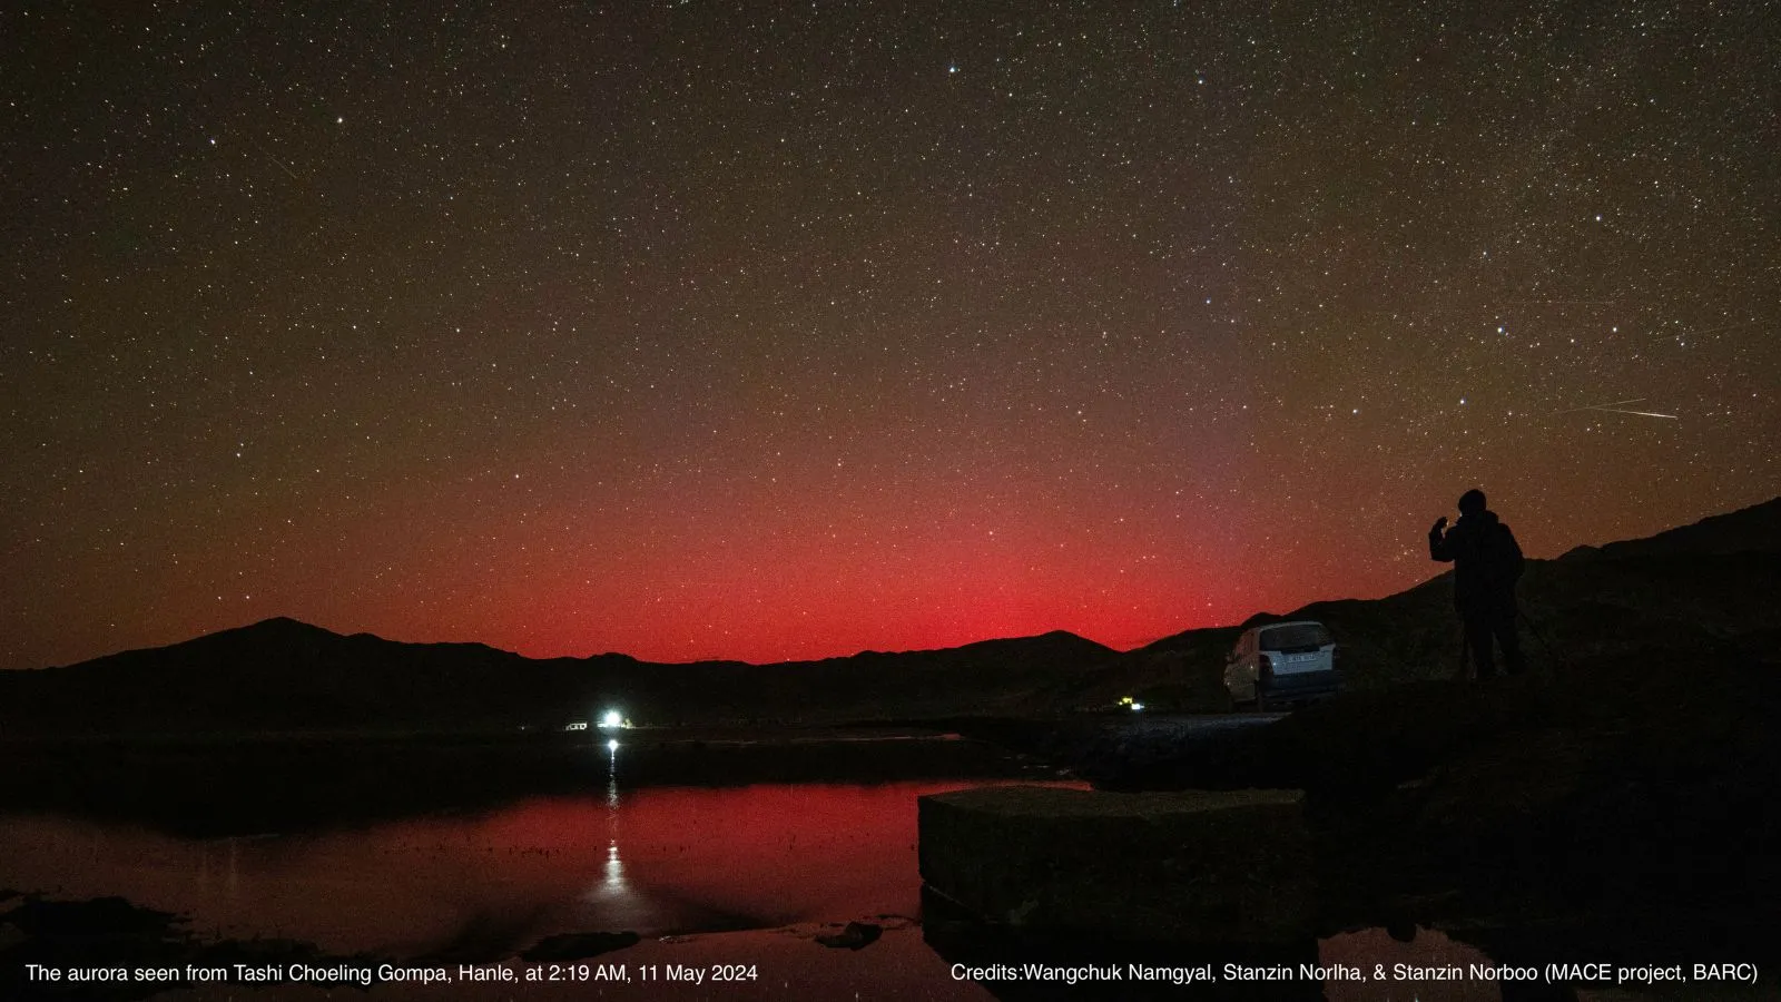
[[[0,665],[1133,647],[1774,497],[1777,25],[7,4]]]

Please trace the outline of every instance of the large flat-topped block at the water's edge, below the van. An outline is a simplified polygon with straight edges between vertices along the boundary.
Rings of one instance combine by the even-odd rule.
[[[1314,922],[1297,790],[921,797],[921,875],[992,924],[1126,940],[1284,941]]]

